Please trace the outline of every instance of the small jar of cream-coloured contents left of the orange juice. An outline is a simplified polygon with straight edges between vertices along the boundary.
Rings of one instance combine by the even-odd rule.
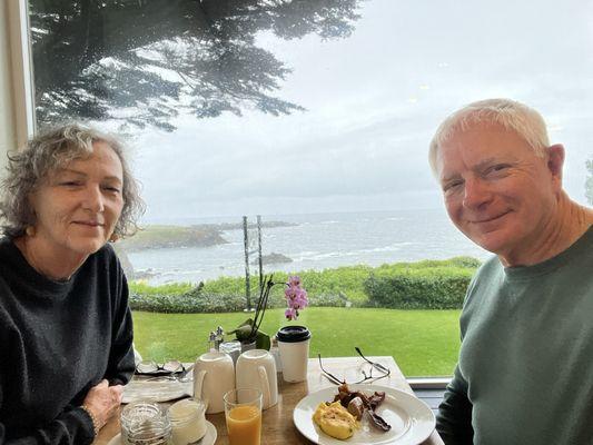
[[[186,398],[169,407],[174,445],[187,445],[206,434],[206,405],[201,400]]]

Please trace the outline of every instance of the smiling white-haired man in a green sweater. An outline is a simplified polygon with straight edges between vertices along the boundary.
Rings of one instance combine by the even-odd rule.
[[[593,443],[593,209],[562,189],[564,148],[506,99],[449,116],[431,144],[447,212],[496,254],[467,289],[437,416],[446,444]]]

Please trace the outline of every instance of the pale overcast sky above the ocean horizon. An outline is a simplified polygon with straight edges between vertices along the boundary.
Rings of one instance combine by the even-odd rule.
[[[593,157],[593,1],[366,0],[350,38],[258,36],[293,72],[274,117],[180,116],[142,130],[134,168],[146,221],[442,207],[427,147],[448,113],[508,97],[566,148],[564,186],[585,202]]]

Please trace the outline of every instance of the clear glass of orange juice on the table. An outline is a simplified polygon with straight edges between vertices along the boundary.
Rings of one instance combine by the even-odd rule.
[[[261,438],[261,392],[231,389],[224,396],[230,445],[259,445]]]

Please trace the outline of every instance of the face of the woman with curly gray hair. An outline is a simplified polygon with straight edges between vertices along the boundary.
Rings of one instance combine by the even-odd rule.
[[[50,172],[30,197],[34,237],[57,254],[85,257],[99,250],[121,215],[121,161],[107,144],[92,147],[89,158]]]

